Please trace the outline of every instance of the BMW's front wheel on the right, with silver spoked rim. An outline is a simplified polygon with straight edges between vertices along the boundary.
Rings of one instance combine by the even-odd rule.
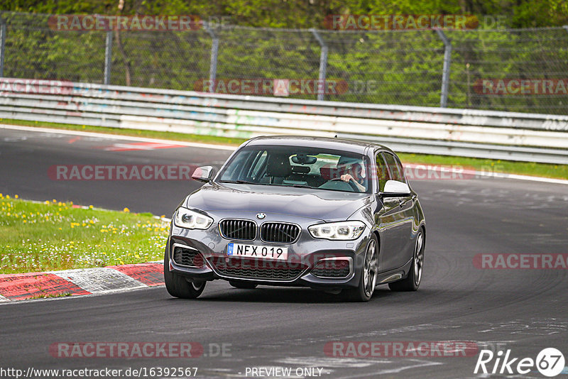
[[[368,302],[371,300],[377,284],[377,274],[378,240],[375,234],[371,234],[365,251],[359,286],[346,291],[349,300],[353,302]]]

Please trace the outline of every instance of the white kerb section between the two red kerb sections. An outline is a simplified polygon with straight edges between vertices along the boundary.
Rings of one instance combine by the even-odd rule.
[[[91,293],[108,293],[148,287],[143,282],[112,268],[80,268],[77,270],[50,271],[60,278]]]

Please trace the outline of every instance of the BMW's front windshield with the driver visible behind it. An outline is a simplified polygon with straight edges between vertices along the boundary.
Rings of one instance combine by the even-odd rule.
[[[253,145],[239,150],[219,182],[370,192],[364,155],[304,146]]]

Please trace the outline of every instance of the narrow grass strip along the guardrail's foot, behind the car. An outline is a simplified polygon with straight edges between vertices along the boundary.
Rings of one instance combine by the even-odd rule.
[[[216,143],[221,145],[238,146],[243,143],[242,138],[226,138],[217,136],[202,136],[197,134],[173,133],[167,131],[142,131],[136,129],[104,128],[101,126],[73,125],[69,123],[48,123],[38,121],[21,121],[13,119],[0,119],[0,123],[13,125],[37,126],[43,128],[59,128],[72,131],[92,131],[98,133],[119,134],[122,136],[136,136],[148,138],[162,138],[173,141],[188,141],[200,143]],[[480,158],[465,158],[450,155],[425,155],[400,153],[400,160],[404,163],[422,163],[429,165],[461,166],[485,172],[505,172],[519,175],[532,175],[568,179],[568,165],[550,165],[546,163],[515,162],[512,160],[491,160]]]

